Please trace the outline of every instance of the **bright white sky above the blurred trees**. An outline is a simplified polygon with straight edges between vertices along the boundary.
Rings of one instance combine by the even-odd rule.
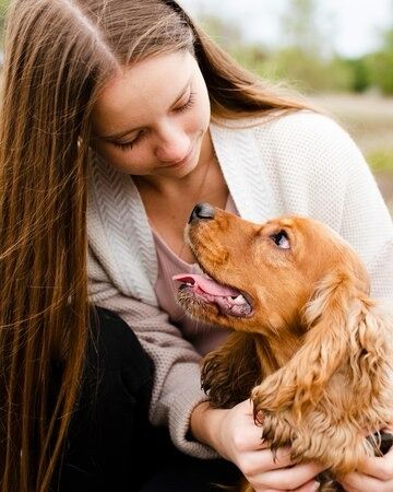
[[[214,13],[239,25],[246,39],[266,46],[279,42],[278,17],[288,0],[179,0],[198,16]],[[290,1],[290,0],[289,0]],[[321,28],[341,55],[358,57],[379,46],[381,31],[393,26],[393,0],[318,0]]]

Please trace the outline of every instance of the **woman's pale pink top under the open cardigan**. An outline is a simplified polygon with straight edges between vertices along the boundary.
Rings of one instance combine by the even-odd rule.
[[[230,195],[228,195],[225,210],[238,214]],[[180,328],[184,338],[190,340],[195,349],[204,355],[226,339],[228,330],[191,319],[177,304],[176,292],[179,282],[175,282],[172,276],[178,273],[201,274],[202,271],[196,263],[190,265],[179,258],[153,227],[152,231],[158,259],[158,277],[154,285],[158,305],[168,313],[169,320]]]

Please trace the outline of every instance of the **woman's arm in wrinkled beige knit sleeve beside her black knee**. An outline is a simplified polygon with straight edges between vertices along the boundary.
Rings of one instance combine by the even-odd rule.
[[[200,354],[169,324],[165,313],[121,294],[91,250],[88,272],[91,302],[120,315],[154,361],[152,423],[167,425],[175,445],[184,453],[200,458],[217,457],[211,447],[187,438],[193,408],[206,400],[201,389]]]

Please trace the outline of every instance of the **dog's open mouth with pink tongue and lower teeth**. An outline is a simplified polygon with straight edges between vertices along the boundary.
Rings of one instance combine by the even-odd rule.
[[[252,315],[252,306],[245,294],[230,286],[221,285],[211,278],[198,274],[180,273],[172,277],[181,282],[180,290],[189,291],[204,303],[215,304],[219,313],[227,316],[248,317]]]

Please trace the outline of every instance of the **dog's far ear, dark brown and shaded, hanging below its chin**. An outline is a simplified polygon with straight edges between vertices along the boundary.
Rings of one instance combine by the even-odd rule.
[[[252,333],[233,332],[217,350],[203,359],[202,389],[212,407],[231,408],[250,397],[261,380]]]

